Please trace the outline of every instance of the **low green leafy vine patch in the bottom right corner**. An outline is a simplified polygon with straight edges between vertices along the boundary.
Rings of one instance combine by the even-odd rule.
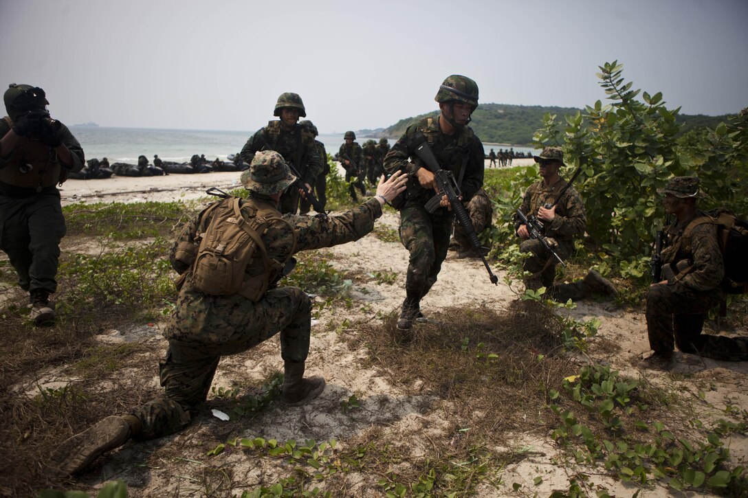
[[[592,365],[566,378],[562,387],[571,400],[590,416],[598,417],[607,429],[605,434],[594,434],[571,410],[555,404],[561,393],[549,390],[549,408],[562,422],[552,437],[577,464],[601,461],[613,476],[643,488],[660,483],[677,491],[705,491],[732,485],[741,492],[748,491],[745,468],[726,467],[729,449],[717,431],[710,432],[705,441],[692,443],[676,437],[659,421],[635,421],[634,431],[627,430],[621,415],[649,408],[640,397],[638,381],[623,378],[609,366]],[[724,427],[721,431],[726,433]],[[646,440],[640,440],[639,434]]]

